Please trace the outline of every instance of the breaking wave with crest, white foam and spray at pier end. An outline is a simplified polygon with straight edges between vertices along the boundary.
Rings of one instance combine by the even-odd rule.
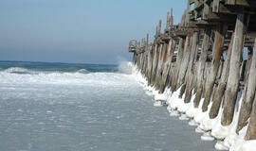
[[[70,84],[70,85],[119,85],[131,78],[131,63],[122,62],[119,68],[108,72],[91,72],[84,67],[71,68],[22,68],[9,67],[0,70],[0,85]],[[99,71],[96,70],[95,71]],[[102,71],[102,70],[101,70]]]

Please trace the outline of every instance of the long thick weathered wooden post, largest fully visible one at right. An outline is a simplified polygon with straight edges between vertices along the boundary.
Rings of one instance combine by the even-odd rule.
[[[245,14],[238,14],[235,25],[234,42],[230,59],[229,77],[225,92],[224,110],[221,124],[229,126],[233,120],[237,92],[239,87],[239,72],[241,65],[242,50],[246,32]]]

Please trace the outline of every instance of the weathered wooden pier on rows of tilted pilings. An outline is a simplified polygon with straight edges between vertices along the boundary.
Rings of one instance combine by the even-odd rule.
[[[178,25],[173,9],[163,32],[161,24],[154,42],[147,35],[129,44],[149,85],[160,93],[181,88],[184,103],[199,108],[203,101],[210,119],[222,109],[222,126],[231,125],[242,91],[236,133],[248,126],[245,140],[256,140],[256,1],[188,0]]]

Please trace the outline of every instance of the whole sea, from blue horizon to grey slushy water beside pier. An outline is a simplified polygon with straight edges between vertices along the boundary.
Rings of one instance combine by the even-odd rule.
[[[131,66],[0,61],[0,151],[211,151]]]

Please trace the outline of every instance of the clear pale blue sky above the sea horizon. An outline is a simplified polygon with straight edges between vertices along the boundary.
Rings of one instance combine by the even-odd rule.
[[[0,0],[0,60],[117,64],[187,0]],[[164,26],[164,25],[163,25]],[[163,27],[162,27],[163,28]]]

